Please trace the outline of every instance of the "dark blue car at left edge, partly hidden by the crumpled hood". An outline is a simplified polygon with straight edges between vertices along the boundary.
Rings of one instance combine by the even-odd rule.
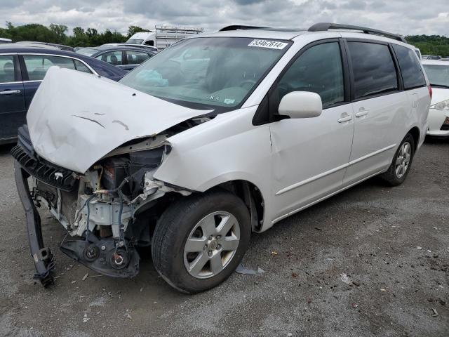
[[[118,81],[127,72],[86,55],[52,48],[0,47],[0,144],[13,143],[48,68],[88,72]],[[58,93],[55,93],[58,95]]]

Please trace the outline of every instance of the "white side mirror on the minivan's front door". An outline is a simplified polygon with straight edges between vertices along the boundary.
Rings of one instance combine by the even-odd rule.
[[[290,118],[319,117],[323,111],[323,103],[318,93],[292,91],[283,96],[278,111],[279,114]]]

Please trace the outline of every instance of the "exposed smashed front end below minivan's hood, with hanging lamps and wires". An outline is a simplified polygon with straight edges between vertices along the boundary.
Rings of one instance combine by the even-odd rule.
[[[150,222],[155,219],[144,206],[150,206],[149,199],[171,192],[163,190],[161,183],[156,193],[159,187],[148,183],[167,148],[163,145],[102,159],[78,177],[72,191],[35,179],[32,197],[36,206],[48,206],[69,234],[77,237],[63,241],[60,249],[104,275],[137,275],[136,247],[149,246]]]

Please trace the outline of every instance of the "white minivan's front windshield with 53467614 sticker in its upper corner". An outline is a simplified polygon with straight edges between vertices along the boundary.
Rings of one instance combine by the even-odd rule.
[[[188,107],[240,105],[288,49],[288,41],[185,39],[154,55],[121,84]]]

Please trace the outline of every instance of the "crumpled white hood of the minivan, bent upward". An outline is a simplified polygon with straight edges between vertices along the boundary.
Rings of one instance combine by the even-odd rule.
[[[51,67],[29,106],[27,124],[41,157],[84,173],[129,140],[156,135],[207,112],[109,79]]]

